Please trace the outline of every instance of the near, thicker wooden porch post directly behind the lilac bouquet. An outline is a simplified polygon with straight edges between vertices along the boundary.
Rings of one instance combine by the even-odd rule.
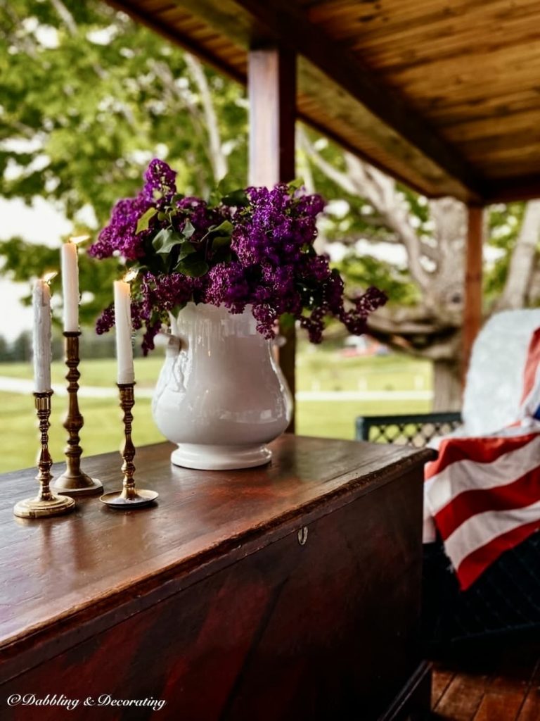
[[[250,50],[249,183],[274,185],[294,178],[294,121],[296,118],[296,56],[283,47]],[[279,365],[294,397],[296,386],[294,327],[282,328],[287,342],[279,349]],[[287,429],[294,432],[294,416]]]

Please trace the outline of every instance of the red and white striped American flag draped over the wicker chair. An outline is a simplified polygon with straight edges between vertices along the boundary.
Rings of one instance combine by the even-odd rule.
[[[462,590],[540,528],[540,329],[528,347],[516,423],[446,438],[426,466],[424,541],[438,531]]]

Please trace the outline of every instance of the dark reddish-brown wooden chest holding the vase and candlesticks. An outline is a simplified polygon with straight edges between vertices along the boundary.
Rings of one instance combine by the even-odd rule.
[[[139,448],[136,479],[160,497],[129,512],[94,497],[71,516],[14,518],[35,470],[0,477],[2,721],[428,709],[417,633],[432,451],[292,435],[272,448],[269,466],[228,472],[171,466],[169,443]],[[84,467],[120,484],[118,454]]]

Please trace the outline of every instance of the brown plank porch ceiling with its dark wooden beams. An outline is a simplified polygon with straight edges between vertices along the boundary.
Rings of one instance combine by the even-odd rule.
[[[297,114],[430,197],[540,195],[538,0],[108,0],[246,82],[299,53]]]

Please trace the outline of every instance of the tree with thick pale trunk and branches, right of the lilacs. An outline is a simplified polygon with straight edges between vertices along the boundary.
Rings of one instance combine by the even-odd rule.
[[[423,198],[304,129],[298,138],[312,188],[346,205],[330,213],[326,229],[327,241],[343,244],[345,238],[350,249],[338,266],[352,283],[378,283],[393,301],[369,319],[370,332],[433,361],[435,407],[459,407],[464,205],[452,198]],[[538,304],[540,201],[494,205],[487,210],[486,226],[485,314]],[[359,243],[376,243],[377,260],[369,249],[359,257]]]

